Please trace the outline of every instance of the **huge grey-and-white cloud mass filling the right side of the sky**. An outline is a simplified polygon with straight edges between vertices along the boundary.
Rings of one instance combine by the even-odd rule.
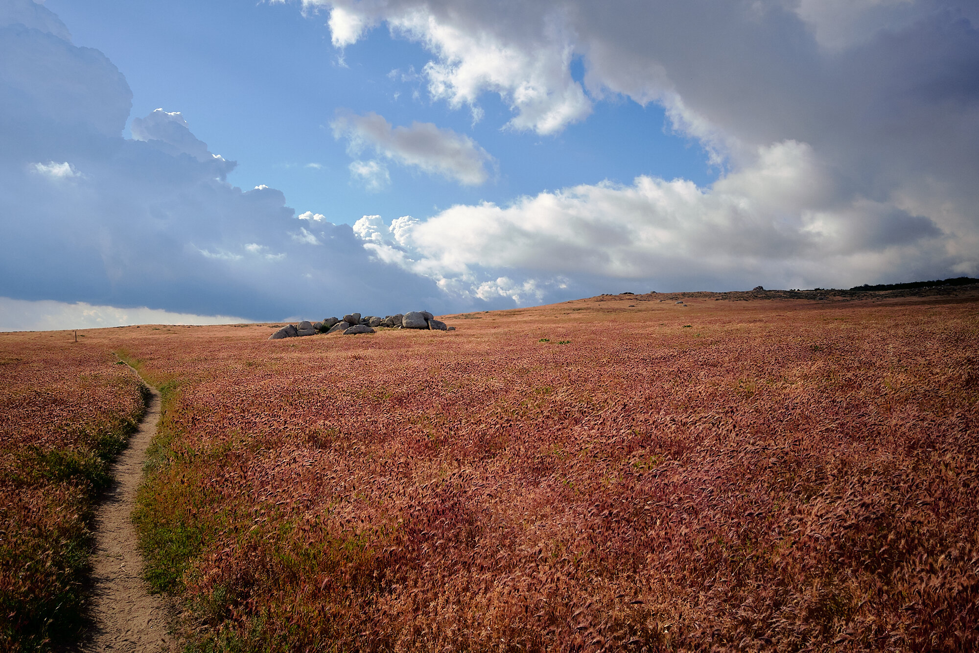
[[[303,4],[358,17],[347,44],[372,25],[420,43],[430,94],[451,106],[497,93],[509,126],[554,133],[606,98],[657,103],[723,172],[708,188],[640,177],[453,207],[412,230],[408,258],[434,277],[498,266],[484,280],[718,287],[979,272],[975,3]]]

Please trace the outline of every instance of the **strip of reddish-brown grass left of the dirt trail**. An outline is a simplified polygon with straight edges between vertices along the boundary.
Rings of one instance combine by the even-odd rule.
[[[87,524],[142,384],[68,332],[0,337],[0,650],[46,650],[82,625]]]

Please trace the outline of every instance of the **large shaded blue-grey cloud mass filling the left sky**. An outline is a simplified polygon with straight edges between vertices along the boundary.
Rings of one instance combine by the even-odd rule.
[[[350,226],[229,184],[234,162],[179,113],[124,138],[125,78],[52,17],[31,0],[0,13],[0,296],[256,320],[446,304],[433,280],[372,261]]]

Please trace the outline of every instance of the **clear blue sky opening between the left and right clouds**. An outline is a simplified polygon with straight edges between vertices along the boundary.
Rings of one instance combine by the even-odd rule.
[[[506,203],[543,189],[603,179],[628,183],[639,175],[703,185],[719,172],[697,140],[674,132],[662,107],[628,98],[598,104],[586,124],[541,136],[504,129],[510,111],[488,92],[480,98],[486,117],[473,125],[465,108],[429,97],[418,72],[431,55],[393,38],[384,25],[340,52],[325,15],[303,16],[290,4],[48,0],[45,6],[69,25],[76,45],[98,48],[126,75],[132,117],[158,107],[181,112],[212,152],[238,162],[231,183],[278,188],[299,213],[335,223],[373,214],[424,217],[456,203]],[[580,62],[576,68],[581,78]],[[411,70],[417,78],[403,80]],[[498,176],[467,188],[395,168],[390,187],[365,192],[350,183],[346,145],[330,129],[338,110],[467,133],[498,161]]]

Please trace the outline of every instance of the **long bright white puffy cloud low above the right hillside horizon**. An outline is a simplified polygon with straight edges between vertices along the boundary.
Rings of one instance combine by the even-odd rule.
[[[927,276],[936,261],[954,260],[952,241],[932,220],[861,197],[840,204],[839,183],[809,146],[786,141],[710,187],[639,176],[630,185],[583,184],[504,207],[457,205],[392,226],[365,216],[354,232],[378,259],[431,276],[447,291],[522,303],[576,282],[662,288],[694,276],[722,289],[812,279],[852,285],[882,264]]]

